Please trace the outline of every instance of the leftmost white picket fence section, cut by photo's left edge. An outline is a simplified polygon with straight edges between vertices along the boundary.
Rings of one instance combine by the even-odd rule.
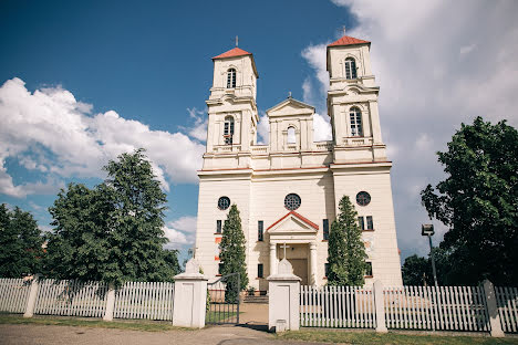
[[[30,290],[23,279],[0,279],[0,312],[24,313]]]

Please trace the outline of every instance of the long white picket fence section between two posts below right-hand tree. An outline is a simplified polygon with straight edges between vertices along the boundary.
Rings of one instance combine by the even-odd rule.
[[[481,286],[396,286],[384,290],[387,328],[488,332]]]

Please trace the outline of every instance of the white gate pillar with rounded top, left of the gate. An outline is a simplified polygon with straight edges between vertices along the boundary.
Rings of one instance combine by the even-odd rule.
[[[175,301],[173,325],[180,327],[205,327],[207,279],[199,273],[199,263],[190,259],[185,272],[175,275]]]

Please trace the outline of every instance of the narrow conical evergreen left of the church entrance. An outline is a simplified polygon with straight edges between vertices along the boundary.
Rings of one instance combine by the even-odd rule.
[[[225,292],[227,302],[236,302],[239,296],[237,292],[245,290],[248,285],[245,244],[239,210],[236,205],[232,205],[222,228],[219,259],[221,260],[221,275],[239,273],[240,283],[238,286],[236,275],[227,279]]]

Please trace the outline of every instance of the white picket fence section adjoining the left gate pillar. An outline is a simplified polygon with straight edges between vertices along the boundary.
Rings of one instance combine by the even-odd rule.
[[[127,282],[115,292],[115,318],[173,320],[174,283]]]

